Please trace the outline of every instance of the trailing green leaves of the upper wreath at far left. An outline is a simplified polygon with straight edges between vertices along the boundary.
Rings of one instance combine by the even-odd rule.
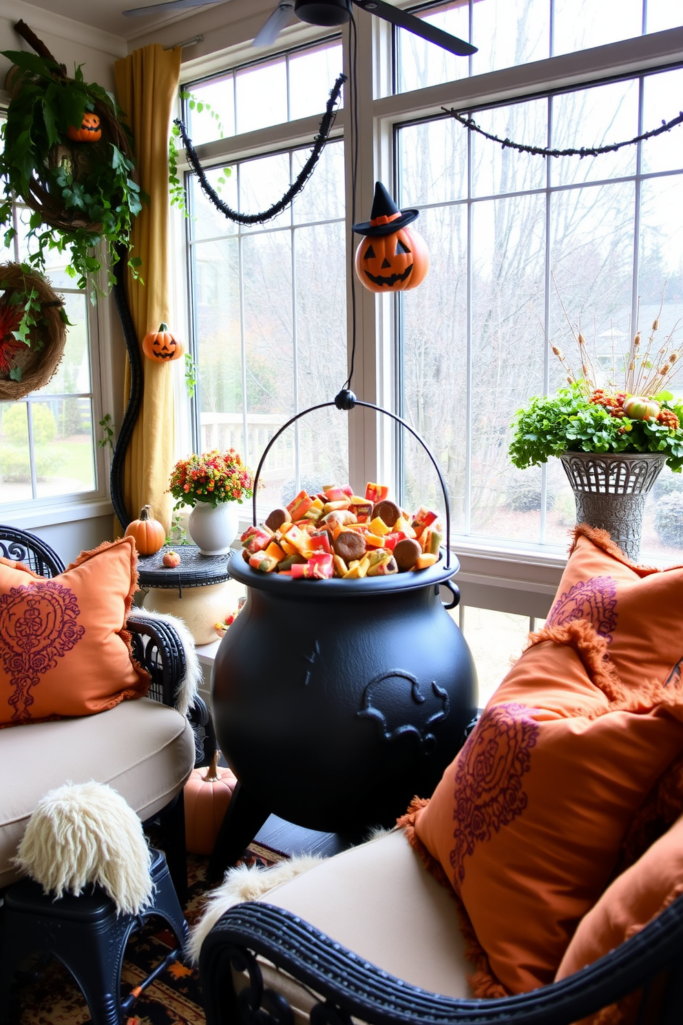
[[[73,79],[68,79],[58,74],[58,65],[53,60],[35,53],[4,50],[3,56],[23,73],[20,88],[7,109],[4,152],[0,154],[4,189],[4,195],[0,194],[0,224],[6,228],[5,245],[16,234],[12,203],[16,199],[31,203],[37,179],[45,192],[59,195],[63,209],[74,211],[77,216],[74,225],[66,230],[46,225],[40,213],[32,213],[28,262],[44,273],[50,251],[69,250],[67,272],[77,280],[79,288],[87,289],[94,301],[100,291],[95,279],[101,268],[96,247],[103,242],[110,264],[116,262],[117,246],[129,246],[142,197],[131,177],[132,162],[113,142],[102,138],[83,144],[87,146],[87,153],[83,151],[87,159],[83,162],[72,160],[69,151],[59,155],[57,147],[65,142],[70,125],[80,126],[83,115],[93,111],[95,102],[116,118],[121,112],[111,93],[83,80],[80,68]],[[79,221],[101,224],[101,232],[95,234],[87,227],[77,227]],[[136,274],[139,260],[131,259],[129,265]],[[114,282],[111,270],[109,281]]]

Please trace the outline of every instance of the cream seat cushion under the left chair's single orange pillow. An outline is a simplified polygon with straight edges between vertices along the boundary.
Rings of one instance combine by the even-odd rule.
[[[151,698],[109,711],[0,730],[0,888],[40,797],[62,783],[109,783],[144,821],[179,792],[195,764],[189,723]]]

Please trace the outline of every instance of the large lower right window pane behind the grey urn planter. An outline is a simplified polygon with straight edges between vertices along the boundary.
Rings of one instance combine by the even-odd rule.
[[[682,86],[683,71],[666,71],[479,109],[475,120],[501,138],[556,149],[575,144],[579,125],[600,146],[669,119],[667,97]],[[510,424],[531,395],[563,383],[546,336],[580,369],[562,308],[609,364],[623,362],[632,325],[647,338],[658,319],[658,348],[681,322],[680,132],[594,160],[544,160],[441,117],[400,126],[395,146],[399,205],[422,206],[433,254],[429,287],[400,300],[403,413],[445,470],[457,533],[564,544],[574,507],[562,468],[515,469]],[[427,477],[407,446],[409,504]],[[654,515],[666,489],[683,494],[681,476],[665,469],[650,496],[644,550],[669,558],[672,535],[663,540]]]

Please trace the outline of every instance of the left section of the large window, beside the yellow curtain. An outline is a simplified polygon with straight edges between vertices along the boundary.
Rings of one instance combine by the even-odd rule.
[[[196,102],[211,95],[221,118],[231,108],[238,127],[268,127],[273,119],[309,114],[312,127],[340,71],[341,47],[334,43],[189,88]],[[280,199],[310,153],[310,145],[280,146],[232,162],[231,142],[225,140],[223,159],[209,179],[232,209],[247,213]],[[294,204],[264,224],[246,228],[225,218],[194,177],[189,211],[196,445],[203,451],[233,446],[255,468],[283,423],[297,410],[333,398],[346,377],[344,145],[329,141]],[[312,486],[347,475],[345,422],[329,412],[325,418],[325,412],[302,419],[275,442],[261,476],[264,504],[289,501],[299,482]]]

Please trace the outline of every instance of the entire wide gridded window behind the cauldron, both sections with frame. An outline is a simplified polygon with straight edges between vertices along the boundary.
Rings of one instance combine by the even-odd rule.
[[[352,386],[403,415],[437,458],[453,540],[469,560],[463,586],[504,594],[498,608],[506,614],[541,617],[539,596],[545,602],[553,592],[573,499],[559,465],[510,466],[512,416],[561,380],[546,340],[571,355],[561,302],[595,337],[599,360],[618,354],[636,323],[649,330],[663,295],[663,334],[681,317],[683,130],[595,160],[545,160],[468,133],[443,109],[471,112],[484,130],[540,147],[632,138],[678,114],[672,97],[683,84],[683,48],[680,33],[668,30],[680,22],[680,5],[627,0],[615,16],[615,5],[592,0],[460,0],[416,12],[479,50],[452,57],[358,16],[376,45],[358,52],[356,219],[368,218],[381,179],[399,206],[421,210],[413,227],[427,239],[432,266],[420,288],[395,297],[376,299],[356,284]],[[319,120],[312,115],[338,74],[341,46],[324,40],[186,86],[222,121],[219,138],[215,119],[196,102],[201,156],[215,164],[214,181],[230,167],[221,197],[231,206],[253,212],[289,186],[309,152]],[[353,54],[345,59],[353,67]],[[351,114],[343,110],[335,126],[346,144]],[[350,167],[337,134],[293,208],[251,229],[223,219],[190,178],[196,444],[200,430],[203,447],[229,439],[255,463],[288,417],[341,387],[350,346],[345,271],[358,241],[344,204]],[[310,424],[306,417],[278,441],[264,506],[328,475],[356,487],[395,483],[408,505],[439,501],[433,468],[410,438],[381,417],[375,424],[365,414],[335,415],[324,410]],[[671,531],[664,540],[655,522],[657,495],[679,481],[666,470],[650,499],[645,556],[680,558],[683,543],[672,544]]]

